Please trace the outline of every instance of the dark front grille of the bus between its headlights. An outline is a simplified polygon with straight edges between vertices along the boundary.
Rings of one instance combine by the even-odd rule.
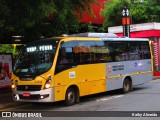
[[[41,85],[18,85],[18,91],[40,91]]]

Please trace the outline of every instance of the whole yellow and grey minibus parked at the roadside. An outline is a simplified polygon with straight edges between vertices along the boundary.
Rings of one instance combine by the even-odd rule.
[[[81,33],[27,44],[12,73],[15,101],[73,105],[81,96],[121,89],[152,80],[148,39]]]

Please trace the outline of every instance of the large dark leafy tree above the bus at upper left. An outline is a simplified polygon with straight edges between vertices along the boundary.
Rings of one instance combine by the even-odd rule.
[[[21,35],[27,40],[78,31],[78,17],[95,0],[0,0],[0,41]]]

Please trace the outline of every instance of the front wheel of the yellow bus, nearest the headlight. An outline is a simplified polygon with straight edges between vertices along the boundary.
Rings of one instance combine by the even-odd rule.
[[[76,102],[76,92],[73,88],[69,88],[66,92],[65,103],[70,106]]]

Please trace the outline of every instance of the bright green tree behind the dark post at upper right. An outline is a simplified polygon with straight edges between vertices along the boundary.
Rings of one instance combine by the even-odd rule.
[[[125,6],[130,9],[132,24],[160,22],[160,0],[144,0],[142,4],[138,3],[138,0],[135,4],[132,4],[130,0],[108,0],[101,12],[101,15],[105,17],[103,29],[122,24],[122,9]]]

